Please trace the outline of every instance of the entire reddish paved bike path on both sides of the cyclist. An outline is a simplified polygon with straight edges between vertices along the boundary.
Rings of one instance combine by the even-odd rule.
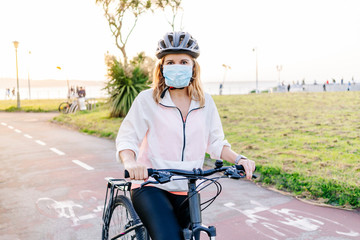
[[[50,123],[53,113],[0,113],[0,239],[100,239],[105,178],[119,177],[113,141]],[[223,179],[203,212],[217,239],[360,239],[356,212],[305,204]],[[202,200],[214,189],[202,192]],[[206,238],[202,238],[206,239]]]

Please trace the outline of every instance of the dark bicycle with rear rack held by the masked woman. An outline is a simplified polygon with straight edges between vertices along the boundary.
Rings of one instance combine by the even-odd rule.
[[[207,178],[208,176],[223,172],[223,176]],[[146,181],[142,183],[141,187],[148,184],[163,184],[171,181],[173,176],[182,176],[181,179],[188,180],[188,202],[190,211],[190,225],[183,229],[183,236],[185,240],[199,240],[200,232],[205,232],[210,240],[215,240],[216,228],[214,226],[205,226],[202,224],[201,211],[210,206],[215,199],[220,195],[222,186],[218,179],[222,177],[240,179],[244,178],[245,171],[241,165],[233,165],[230,167],[223,167],[223,162],[217,160],[215,168],[209,170],[193,169],[193,171],[186,171],[180,169],[148,169],[148,174],[155,181]],[[125,170],[125,178],[129,174]],[[253,175],[253,178],[256,178]],[[178,178],[176,179],[178,180]],[[196,185],[197,180],[204,180]],[[211,184],[215,184],[217,192],[214,197],[201,203],[200,191]],[[110,189],[110,190],[109,190]],[[107,184],[106,198],[103,211],[103,227],[102,239],[137,239],[149,240],[150,237],[146,228],[142,224],[135,209],[129,199],[131,182],[125,179],[109,179]],[[121,195],[121,193],[123,193]],[[207,204],[201,209],[201,206]]]

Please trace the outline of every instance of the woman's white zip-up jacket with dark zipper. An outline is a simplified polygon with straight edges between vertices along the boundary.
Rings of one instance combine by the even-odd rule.
[[[152,89],[141,92],[123,120],[116,138],[118,160],[119,152],[125,149],[134,151],[139,163],[157,169],[202,168],[205,152],[220,159],[224,145],[230,144],[224,140],[219,113],[209,94],[205,94],[204,107],[191,101],[185,120],[169,91],[159,104],[152,94]],[[187,191],[187,181],[156,186],[168,191]]]

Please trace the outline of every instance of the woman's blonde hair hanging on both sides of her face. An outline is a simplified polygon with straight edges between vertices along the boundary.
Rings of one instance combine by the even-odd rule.
[[[164,89],[166,88],[165,85],[165,78],[162,75],[162,66],[164,64],[165,56],[162,57],[156,67],[154,69],[154,76],[153,76],[153,84],[152,88],[154,89],[153,98],[156,103],[159,103],[161,100],[161,94],[163,93]],[[202,88],[202,84],[200,81],[200,65],[195,60],[192,59],[194,66],[193,66],[193,76],[192,81],[190,82],[189,86],[187,87],[187,93],[191,97],[191,99],[199,101],[200,106],[203,107],[205,105],[205,95]]]

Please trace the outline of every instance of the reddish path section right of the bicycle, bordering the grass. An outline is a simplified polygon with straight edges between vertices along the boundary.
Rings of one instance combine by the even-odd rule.
[[[221,183],[224,191],[203,213],[204,222],[216,226],[216,239],[360,239],[358,211],[311,204],[248,181]]]

